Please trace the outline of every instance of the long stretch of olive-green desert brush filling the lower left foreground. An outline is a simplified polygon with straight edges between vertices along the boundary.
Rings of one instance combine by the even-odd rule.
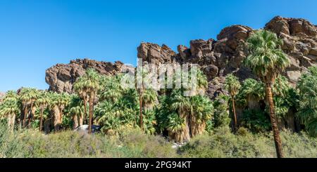
[[[122,128],[119,135],[63,131],[44,135],[32,129],[8,133],[0,126],[0,157],[176,157],[159,135]]]

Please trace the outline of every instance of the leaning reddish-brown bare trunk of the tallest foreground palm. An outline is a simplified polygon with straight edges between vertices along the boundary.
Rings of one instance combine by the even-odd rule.
[[[276,154],[278,158],[282,158],[284,157],[282,153],[282,142],[280,140],[280,131],[278,131],[278,121],[276,120],[275,116],[275,107],[273,102],[271,84],[266,84],[266,98],[268,100],[268,107],[270,112]]]

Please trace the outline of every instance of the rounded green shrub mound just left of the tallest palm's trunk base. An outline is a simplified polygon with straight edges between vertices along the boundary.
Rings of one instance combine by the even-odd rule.
[[[211,135],[201,135],[180,148],[181,157],[273,157],[274,147],[262,135],[234,135],[229,127],[217,128]],[[272,145],[272,144],[271,144]]]

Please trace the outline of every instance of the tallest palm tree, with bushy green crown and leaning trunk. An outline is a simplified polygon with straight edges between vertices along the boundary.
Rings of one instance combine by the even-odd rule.
[[[275,117],[272,86],[278,74],[290,64],[287,55],[280,48],[282,43],[282,40],[275,33],[258,30],[247,39],[249,55],[244,60],[244,65],[251,68],[266,86],[266,100],[268,101],[275,148],[279,158],[283,157],[282,143]]]

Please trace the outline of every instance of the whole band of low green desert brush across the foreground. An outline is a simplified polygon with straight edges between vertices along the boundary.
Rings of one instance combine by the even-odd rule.
[[[282,131],[285,157],[317,157],[317,140],[306,133]],[[62,131],[44,135],[27,129],[9,133],[0,125],[0,157],[276,157],[272,133],[237,134],[228,126],[198,135],[178,150],[159,135],[121,128],[118,135]]]

